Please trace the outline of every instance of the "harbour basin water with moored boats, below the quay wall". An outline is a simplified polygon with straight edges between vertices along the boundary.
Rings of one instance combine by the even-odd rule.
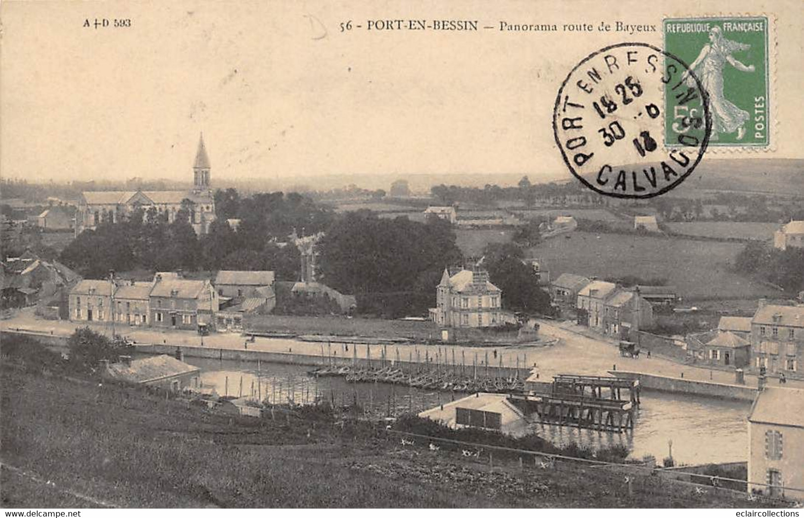
[[[253,397],[276,403],[298,404],[316,397],[336,405],[358,403],[375,415],[420,412],[463,393],[423,390],[383,383],[350,384],[340,376],[316,378],[311,367],[256,364],[229,360],[186,358],[202,369],[201,382],[220,396]],[[747,401],[642,391],[634,431],[614,434],[565,426],[533,425],[541,437],[556,445],[577,442],[596,448],[623,445],[632,458],[653,455],[658,463],[672,450],[676,464],[736,462],[747,458]]]

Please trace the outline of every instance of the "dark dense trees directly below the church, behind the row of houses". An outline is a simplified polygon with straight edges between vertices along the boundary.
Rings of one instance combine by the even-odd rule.
[[[333,217],[295,193],[241,199],[228,189],[216,192],[215,199],[221,203],[218,219],[206,235],[196,236],[191,227],[190,203],[183,204],[172,223],[151,208],[117,224],[103,220],[96,230],[72,241],[61,259],[84,277],[104,277],[109,269],[272,269],[277,279],[293,281],[298,278],[299,253],[288,243],[289,236],[294,230],[322,231]],[[240,219],[236,230],[227,222],[232,218]]]

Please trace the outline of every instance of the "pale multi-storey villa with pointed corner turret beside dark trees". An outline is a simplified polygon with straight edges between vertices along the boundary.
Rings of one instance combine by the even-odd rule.
[[[442,327],[497,327],[505,323],[503,292],[489,281],[484,269],[447,269],[436,288],[437,307],[430,308],[433,322]]]

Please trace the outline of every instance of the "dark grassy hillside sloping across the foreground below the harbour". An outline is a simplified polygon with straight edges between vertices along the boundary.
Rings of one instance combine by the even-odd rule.
[[[32,368],[33,370],[37,370]],[[2,367],[3,508],[762,508],[745,494],[495,454],[401,447],[384,426],[296,409],[236,417],[114,384]],[[421,441],[416,441],[421,443]],[[521,458],[520,458],[521,460]],[[38,475],[38,476],[36,476]],[[44,476],[43,476],[44,475]],[[46,478],[45,478],[46,477]],[[45,482],[47,481],[47,482]]]

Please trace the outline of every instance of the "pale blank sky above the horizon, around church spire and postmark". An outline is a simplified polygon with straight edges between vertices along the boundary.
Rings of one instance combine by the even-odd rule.
[[[2,2],[0,175],[216,179],[522,174],[565,179],[559,85],[590,52],[661,34],[367,31],[370,19],[654,24],[722,2]],[[559,7],[560,6],[560,7]],[[800,2],[776,17],[773,150],[804,158]],[[130,19],[131,27],[84,27]],[[362,29],[341,32],[353,20]],[[729,155],[731,156],[731,155]]]

